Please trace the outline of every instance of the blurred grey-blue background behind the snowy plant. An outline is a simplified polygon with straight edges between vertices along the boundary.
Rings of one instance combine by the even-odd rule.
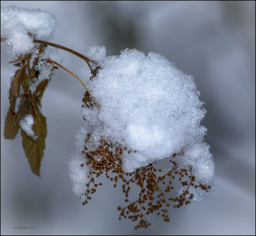
[[[1,235],[255,235],[255,1],[1,1],[1,7],[14,4],[56,17],[51,42],[82,54],[91,44],[104,45],[108,55],[127,47],[154,51],[193,75],[208,110],[202,124],[218,189],[200,203],[170,207],[169,223],[152,214],[147,230],[118,220],[116,208],[125,205],[121,184],[114,189],[104,176],[82,206],[67,162],[84,125],[84,88],[61,69],[43,96],[46,149],[41,178],[32,174],[20,135],[3,138],[15,68],[1,42]],[[89,79],[83,60],[59,53],[63,66]]]

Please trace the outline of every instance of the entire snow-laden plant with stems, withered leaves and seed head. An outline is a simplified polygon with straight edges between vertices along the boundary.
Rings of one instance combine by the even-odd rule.
[[[128,205],[118,207],[119,220],[139,221],[135,230],[147,228],[146,215],[157,212],[169,222],[170,202],[179,208],[198,201],[213,184],[214,162],[203,138],[207,129],[200,125],[206,110],[194,78],[154,52],[127,48],[107,56],[104,46],[92,45],[82,55],[47,42],[55,26],[46,11],[1,8],[1,42],[18,67],[9,90],[4,137],[14,139],[21,129],[25,155],[39,176],[47,135],[41,99],[54,69],[61,67],[86,89],[81,110],[86,123],[76,135],[77,153],[69,162],[82,205],[102,185],[95,178],[104,173],[114,187],[123,182]],[[92,74],[87,85],[60,64],[57,49],[86,61]],[[169,165],[156,169],[155,162],[162,159]],[[132,185],[139,188],[134,201],[128,199]],[[167,198],[175,188],[177,193]]]

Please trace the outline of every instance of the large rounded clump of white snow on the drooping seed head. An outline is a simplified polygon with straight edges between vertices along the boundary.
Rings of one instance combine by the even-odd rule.
[[[154,52],[125,49],[107,57],[105,47],[95,45],[86,56],[99,67],[87,88],[100,109],[82,110],[87,125],[77,136],[79,153],[84,146],[96,150],[103,136],[127,147],[120,157],[123,170],[131,173],[184,151],[178,164],[192,167],[198,181],[211,181],[214,163],[203,142],[206,128],[200,126],[206,110],[193,77]],[[91,143],[85,144],[87,133]],[[70,174],[74,179],[76,171],[71,168]]]

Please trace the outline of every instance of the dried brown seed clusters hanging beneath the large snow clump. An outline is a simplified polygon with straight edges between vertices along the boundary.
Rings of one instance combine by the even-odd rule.
[[[87,135],[87,139],[85,143],[90,142],[90,134]],[[169,222],[169,214],[168,209],[169,203],[173,202],[173,207],[181,207],[182,205],[187,205],[190,203],[190,200],[193,199],[193,194],[189,191],[191,187],[201,188],[202,190],[208,191],[211,187],[204,185],[195,185],[195,176],[192,174],[191,169],[180,169],[178,165],[175,163],[174,159],[179,158],[181,154],[174,154],[172,156],[172,160],[170,163],[172,168],[167,171],[167,173],[162,174],[161,169],[154,168],[153,164],[149,164],[146,167],[141,167],[137,169],[131,174],[125,173],[122,169],[122,161],[120,156],[123,154],[123,149],[119,146],[116,147],[113,145],[111,140],[105,140],[102,136],[101,144],[95,151],[87,152],[88,148],[85,146],[82,153],[85,155],[88,160],[86,163],[81,164],[81,167],[84,165],[91,167],[91,172],[88,175],[90,178],[89,183],[86,185],[87,190],[84,193],[86,195],[86,199],[91,199],[90,194],[94,194],[96,192],[96,187],[100,184],[95,183],[94,177],[99,177],[105,172],[105,175],[110,181],[114,181],[114,187],[116,187],[116,183],[119,180],[123,181],[122,189],[125,194],[125,202],[129,202],[129,204],[125,207],[118,207],[120,211],[119,220],[121,217],[132,219],[132,221],[139,220],[138,224],[134,227],[134,229],[138,229],[141,227],[147,228],[151,225],[146,219],[146,215],[149,213],[157,212],[158,215],[163,217],[165,222]],[[114,174],[114,176],[110,176],[109,173]],[[161,175],[162,174],[162,175]],[[125,179],[128,176],[129,179]],[[173,181],[175,176],[178,177],[182,186],[187,186],[183,193],[175,198],[166,198],[165,194],[169,193],[173,187]],[[186,180],[184,180],[186,178]],[[140,191],[138,193],[138,199],[134,202],[129,201],[129,191],[131,189],[132,184],[136,184],[139,186]],[[90,184],[93,184],[93,188],[90,188]],[[168,201],[167,201],[168,200]],[[87,204],[88,201],[85,200],[83,205]]]

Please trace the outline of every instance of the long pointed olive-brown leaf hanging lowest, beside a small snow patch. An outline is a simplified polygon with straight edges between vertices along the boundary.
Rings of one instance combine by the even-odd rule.
[[[45,138],[47,135],[46,119],[40,113],[36,107],[36,114],[33,114],[34,122],[32,129],[37,136],[37,140],[33,140],[31,137],[22,130],[22,146],[25,151],[25,155],[30,164],[30,169],[34,174],[40,176],[40,165],[43,158],[43,152],[45,149]]]

